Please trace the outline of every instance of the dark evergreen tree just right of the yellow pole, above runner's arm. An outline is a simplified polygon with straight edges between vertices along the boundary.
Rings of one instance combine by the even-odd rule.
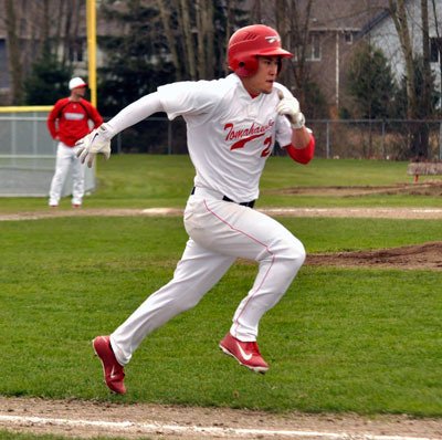
[[[98,40],[106,63],[98,69],[98,107],[104,115],[119,109],[173,80],[158,11],[139,0],[127,1],[125,10],[103,2],[102,13],[124,29],[116,36]]]

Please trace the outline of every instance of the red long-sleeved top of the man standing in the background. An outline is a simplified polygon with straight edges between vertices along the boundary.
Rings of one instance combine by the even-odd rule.
[[[71,101],[69,97],[59,99],[48,115],[48,128],[51,136],[60,139],[69,147],[86,136],[91,128],[88,121],[94,123],[94,128],[103,124],[98,111],[86,99]]]

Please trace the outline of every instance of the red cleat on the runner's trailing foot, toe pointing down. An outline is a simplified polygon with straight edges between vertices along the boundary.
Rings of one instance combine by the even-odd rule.
[[[103,365],[104,380],[107,387],[118,395],[126,394],[124,385],[124,368],[118,364],[110,347],[109,336],[97,336],[93,342],[95,354],[99,357]]]

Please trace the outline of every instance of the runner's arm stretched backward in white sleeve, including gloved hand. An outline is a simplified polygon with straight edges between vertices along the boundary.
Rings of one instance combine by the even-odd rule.
[[[87,163],[90,168],[94,164],[97,154],[103,154],[108,159],[110,156],[110,139],[116,134],[157,112],[164,112],[158,92],[143,96],[123,108],[109,122],[102,124],[83,139],[80,139],[75,144],[77,157],[80,157],[82,164]]]

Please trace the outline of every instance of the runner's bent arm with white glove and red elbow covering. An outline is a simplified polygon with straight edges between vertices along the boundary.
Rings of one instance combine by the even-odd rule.
[[[285,115],[292,126],[292,144],[285,147],[293,160],[308,164],[315,154],[315,138],[312,130],[305,126],[305,117],[299,109],[298,101],[292,94],[278,91],[280,103],[276,111]]]

